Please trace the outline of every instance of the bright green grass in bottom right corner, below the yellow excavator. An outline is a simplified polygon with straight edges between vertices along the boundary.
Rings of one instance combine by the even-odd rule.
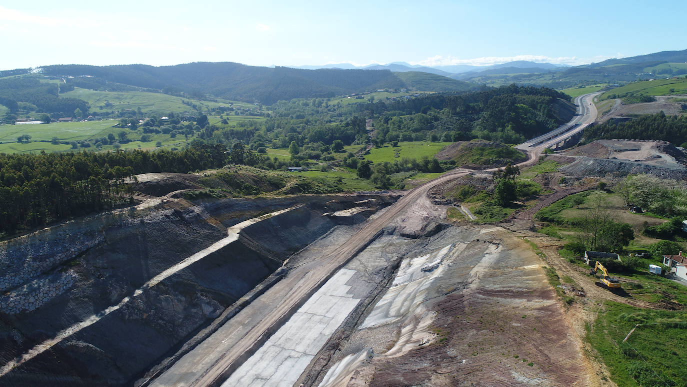
[[[686,322],[685,311],[641,309],[608,301],[594,326],[587,327],[587,340],[619,387],[684,386]]]

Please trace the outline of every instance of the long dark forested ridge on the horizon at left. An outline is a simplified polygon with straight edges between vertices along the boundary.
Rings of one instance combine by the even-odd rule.
[[[49,76],[65,78],[67,85],[112,90],[130,85],[185,96],[214,96],[229,100],[273,104],[293,98],[328,98],[374,89],[412,91],[465,91],[468,82],[415,72],[393,73],[363,69],[293,69],[256,67],[239,63],[187,63],[154,67],[149,65],[52,65],[42,67]],[[88,78],[78,78],[89,76]],[[121,86],[120,86],[121,87]]]

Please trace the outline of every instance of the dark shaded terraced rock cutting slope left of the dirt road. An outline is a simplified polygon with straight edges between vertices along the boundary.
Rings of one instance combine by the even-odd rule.
[[[396,197],[168,201],[154,208],[107,212],[1,243],[0,268],[3,278],[11,280],[3,282],[6,293],[0,296],[0,364],[30,353],[45,340],[64,337],[5,370],[0,385],[133,384],[291,254],[337,225],[335,218],[322,216],[324,212],[359,207],[356,201],[368,199],[385,206]],[[227,238],[227,227],[299,204],[247,226],[226,247],[142,288],[159,273]],[[372,212],[352,218],[361,221]],[[89,319],[95,322],[74,329]],[[74,332],[65,335],[70,329]]]

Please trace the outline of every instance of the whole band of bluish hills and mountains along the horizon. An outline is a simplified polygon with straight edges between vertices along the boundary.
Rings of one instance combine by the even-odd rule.
[[[687,49],[613,58],[576,67],[526,60],[491,66],[427,67],[394,62],[365,67],[348,63],[301,67],[199,62],[160,67],[50,65],[39,69],[14,69],[0,71],[0,104],[17,107],[19,102],[27,102],[45,105],[47,112],[69,113],[74,111],[73,106],[85,103],[67,100],[60,95],[60,92],[74,87],[96,91],[146,90],[185,98],[214,97],[262,104],[293,98],[330,98],[378,89],[466,91],[481,85],[511,83],[563,89],[600,82],[622,84],[633,80],[684,76],[687,75]],[[49,87],[45,82],[38,82],[45,76],[61,80],[60,87],[56,83]],[[59,110],[54,110],[58,107]]]

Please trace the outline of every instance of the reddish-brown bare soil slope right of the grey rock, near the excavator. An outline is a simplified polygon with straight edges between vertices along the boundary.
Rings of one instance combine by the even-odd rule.
[[[348,386],[600,386],[563,304],[524,243],[480,285],[440,298],[430,344],[374,357]]]

